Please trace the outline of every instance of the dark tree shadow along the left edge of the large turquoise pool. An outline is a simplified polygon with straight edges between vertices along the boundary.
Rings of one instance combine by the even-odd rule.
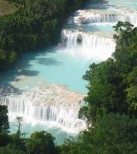
[[[53,58],[43,58],[43,56],[46,56],[48,53],[55,53],[54,47],[35,51],[35,52],[29,52],[23,54],[14,67],[9,69],[5,72],[0,72],[0,85],[5,84],[8,86],[13,86],[12,82],[19,81],[20,76],[27,76],[27,77],[34,77],[38,76],[39,71],[33,70],[31,61],[37,61],[38,64],[43,65],[60,65],[61,63],[54,60]]]

